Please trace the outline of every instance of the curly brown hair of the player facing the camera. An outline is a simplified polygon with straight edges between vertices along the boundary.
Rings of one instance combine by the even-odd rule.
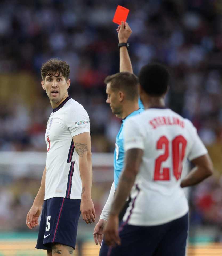
[[[42,80],[44,81],[46,76],[62,75],[66,81],[69,78],[70,68],[66,61],[59,60],[58,58],[52,58],[46,63],[42,64],[40,69]]]

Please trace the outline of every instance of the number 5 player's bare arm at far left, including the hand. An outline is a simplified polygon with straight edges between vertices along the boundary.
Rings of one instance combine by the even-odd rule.
[[[46,167],[43,171],[41,185],[35,197],[33,205],[26,216],[26,225],[29,229],[39,225],[39,216],[42,211],[42,204],[45,196]]]

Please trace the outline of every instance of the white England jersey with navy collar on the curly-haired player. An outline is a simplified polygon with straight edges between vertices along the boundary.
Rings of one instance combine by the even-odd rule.
[[[89,116],[81,104],[67,97],[53,109],[47,122],[45,198],[81,199],[79,155],[73,136],[90,131]]]

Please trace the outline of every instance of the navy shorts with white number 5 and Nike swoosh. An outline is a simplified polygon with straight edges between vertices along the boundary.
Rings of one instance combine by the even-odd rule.
[[[75,249],[80,199],[54,197],[44,201],[37,249],[51,249],[51,243],[61,243]]]

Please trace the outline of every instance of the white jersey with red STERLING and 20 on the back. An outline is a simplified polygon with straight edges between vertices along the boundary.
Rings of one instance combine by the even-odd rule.
[[[184,216],[188,202],[180,187],[186,160],[207,153],[196,128],[170,109],[150,108],[126,120],[124,150],[143,150],[123,220],[131,225],[160,225]]]

